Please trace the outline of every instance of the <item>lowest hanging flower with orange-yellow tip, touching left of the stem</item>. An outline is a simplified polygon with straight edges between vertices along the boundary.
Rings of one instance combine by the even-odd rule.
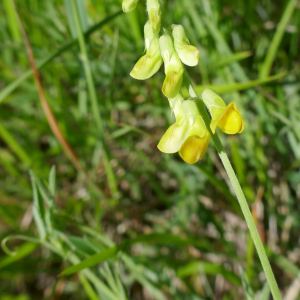
[[[194,164],[203,158],[210,141],[210,133],[205,127],[194,101],[184,101],[183,110],[186,114],[189,131],[187,139],[179,150],[179,155],[186,163]]]

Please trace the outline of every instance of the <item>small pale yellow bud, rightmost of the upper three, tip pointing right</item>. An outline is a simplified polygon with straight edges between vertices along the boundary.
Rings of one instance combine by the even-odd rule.
[[[175,50],[181,61],[187,66],[196,66],[199,62],[200,51],[190,42],[181,25],[173,25],[173,37]]]

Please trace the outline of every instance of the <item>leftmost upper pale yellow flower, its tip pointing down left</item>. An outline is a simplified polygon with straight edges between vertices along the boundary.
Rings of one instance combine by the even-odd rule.
[[[146,54],[135,64],[130,75],[139,80],[145,80],[153,76],[163,63],[160,54],[158,37],[154,34],[148,21],[144,27]]]

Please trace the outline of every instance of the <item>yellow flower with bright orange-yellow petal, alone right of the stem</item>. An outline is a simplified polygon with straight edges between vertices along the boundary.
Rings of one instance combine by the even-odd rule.
[[[213,133],[217,126],[227,134],[241,133],[244,130],[243,118],[234,102],[226,106],[223,99],[211,89],[203,91],[202,99],[212,117],[210,128]]]

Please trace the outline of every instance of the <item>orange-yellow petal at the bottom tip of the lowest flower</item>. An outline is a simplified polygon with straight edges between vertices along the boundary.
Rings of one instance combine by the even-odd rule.
[[[210,135],[199,138],[196,135],[189,136],[181,146],[179,155],[188,164],[194,164],[202,159],[210,140]]]

